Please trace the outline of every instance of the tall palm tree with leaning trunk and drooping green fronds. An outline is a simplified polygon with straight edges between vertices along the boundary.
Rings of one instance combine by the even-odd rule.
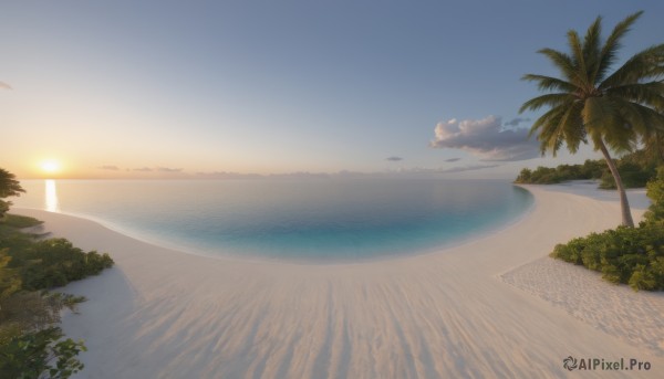
[[[643,139],[664,131],[664,115],[656,112],[664,105],[664,44],[654,45],[630,57],[610,73],[616,60],[621,39],[643,12],[636,12],[615,25],[601,43],[601,21],[588,28],[581,41],[574,30],[568,32],[570,53],[542,49],[560,70],[561,77],[527,74],[523,80],[536,82],[547,94],[521,106],[520,113],[549,107],[530,129],[538,133],[541,152],[556,152],[564,144],[574,154],[581,143],[590,139],[602,151],[620,193],[622,223],[634,227],[630,204],[620,173],[609,148],[618,152],[632,151]],[[609,147],[609,148],[608,148]]]

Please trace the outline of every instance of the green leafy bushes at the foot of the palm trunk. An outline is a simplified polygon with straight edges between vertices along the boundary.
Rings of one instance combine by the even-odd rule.
[[[652,206],[639,228],[619,227],[559,244],[551,253],[634,291],[664,289],[664,169],[647,183]]]

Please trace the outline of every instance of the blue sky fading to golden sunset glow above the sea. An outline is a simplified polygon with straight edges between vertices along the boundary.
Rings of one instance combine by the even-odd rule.
[[[664,42],[664,2],[2,1],[0,167],[509,179],[582,162],[600,155],[527,139],[538,91],[520,78],[558,74],[537,51],[569,29],[602,15],[606,35],[637,10],[621,59]]]

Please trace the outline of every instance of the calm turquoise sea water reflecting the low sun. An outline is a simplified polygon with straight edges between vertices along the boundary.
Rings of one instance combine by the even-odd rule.
[[[17,207],[207,255],[341,262],[424,253],[513,222],[531,194],[436,179],[27,180]]]

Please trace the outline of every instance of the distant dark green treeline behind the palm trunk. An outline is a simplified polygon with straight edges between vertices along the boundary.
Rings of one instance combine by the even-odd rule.
[[[618,170],[626,188],[643,188],[657,175],[661,165],[656,157],[645,150],[636,150],[615,160]],[[560,165],[556,168],[525,168],[515,180],[522,185],[554,185],[569,180],[600,180],[601,189],[615,189],[615,181],[603,159],[588,159],[583,165]]]

